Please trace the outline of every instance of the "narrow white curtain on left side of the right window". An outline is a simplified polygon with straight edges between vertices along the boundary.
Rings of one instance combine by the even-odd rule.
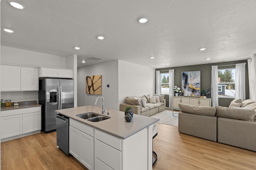
[[[212,98],[212,107],[219,105],[219,99],[218,99],[218,66],[212,66],[212,92],[211,92],[211,98]]]

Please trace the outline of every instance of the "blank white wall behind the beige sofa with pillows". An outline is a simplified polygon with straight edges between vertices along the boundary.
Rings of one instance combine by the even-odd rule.
[[[124,103],[126,96],[154,94],[155,77],[154,68],[118,61],[118,103]]]

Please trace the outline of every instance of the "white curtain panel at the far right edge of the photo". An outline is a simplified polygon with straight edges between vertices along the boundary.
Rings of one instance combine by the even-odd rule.
[[[248,59],[248,77],[249,77],[249,98],[256,101],[256,54]]]

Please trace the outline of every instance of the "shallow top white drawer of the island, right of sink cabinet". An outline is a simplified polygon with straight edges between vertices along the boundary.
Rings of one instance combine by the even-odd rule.
[[[118,150],[122,149],[122,140],[121,139],[114,137],[112,135],[108,135],[107,133],[104,133],[97,129],[95,129],[94,135],[95,135],[95,138],[98,139],[99,141],[102,141]]]

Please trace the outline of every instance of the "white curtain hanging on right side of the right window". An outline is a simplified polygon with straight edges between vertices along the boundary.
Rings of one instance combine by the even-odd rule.
[[[236,64],[236,99],[245,100],[245,64]]]

